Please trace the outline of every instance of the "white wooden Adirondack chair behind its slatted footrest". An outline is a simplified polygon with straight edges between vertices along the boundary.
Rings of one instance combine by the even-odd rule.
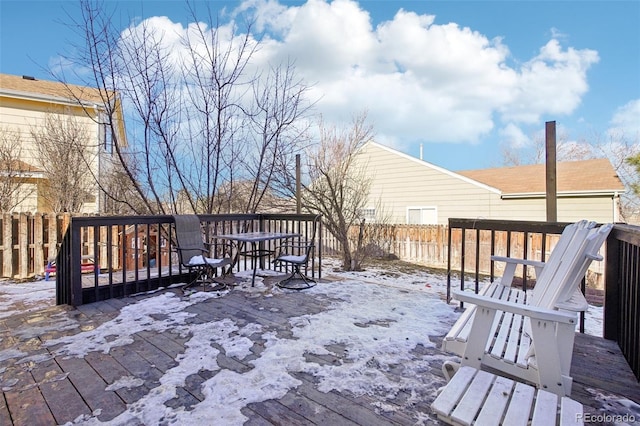
[[[611,225],[584,225],[569,230],[571,238],[560,246],[564,251],[552,253],[531,296],[502,285],[478,295],[454,292],[456,299],[473,306],[464,313],[466,318],[461,316],[464,324],[459,319],[452,327],[443,348],[460,355],[461,365],[489,367],[557,395],[570,395],[577,312],[588,306],[578,283],[591,261],[599,259],[611,230]],[[443,367],[445,375],[455,372],[451,367]]]

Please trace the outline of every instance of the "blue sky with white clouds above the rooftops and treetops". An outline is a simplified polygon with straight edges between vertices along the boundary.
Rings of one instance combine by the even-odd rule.
[[[182,1],[105,5],[123,31],[146,23],[176,51],[193,23]],[[255,65],[294,59],[325,122],[366,111],[377,142],[453,171],[501,165],[503,149],[531,147],[547,121],[566,143],[640,137],[637,0],[209,5],[221,27],[241,12],[256,19]],[[48,79],[69,67],[61,57],[81,42],[69,25],[78,11],[75,1],[0,0],[0,72]]]

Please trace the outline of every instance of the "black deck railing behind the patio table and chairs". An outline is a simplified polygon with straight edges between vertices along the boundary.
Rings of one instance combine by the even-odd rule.
[[[241,214],[199,215],[207,224],[209,241],[216,235],[252,231],[311,234],[314,215]],[[309,274],[321,278],[322,222],[318,223],[314,258]],[[130,296],[188,282],[180,266],[173,216],[74,217],[56,258],[56,303],[73,306]],[[274,251],[278,241],[266,241]],[[316,260],[317,259],[317,260]],[[272,259],[260,259],[270,262]],[[240,257],[234,271],[252,268],[252,259]],[[263,265],[262,265],[263,266]]]

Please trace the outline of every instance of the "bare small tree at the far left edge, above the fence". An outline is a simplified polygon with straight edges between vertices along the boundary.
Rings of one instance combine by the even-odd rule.
[[[26,182],[33,170],[21,158],[20,133],[0,128],[0,212],[12,211],[35,192]]]

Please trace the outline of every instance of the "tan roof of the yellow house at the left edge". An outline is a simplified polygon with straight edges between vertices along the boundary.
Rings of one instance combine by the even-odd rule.
[[[0,90],[5,94],[30,95],[48,99],[59,98],[74,102],[81,100],[91,103],[103,103],[98,89],[11,74],[0,74]]]

